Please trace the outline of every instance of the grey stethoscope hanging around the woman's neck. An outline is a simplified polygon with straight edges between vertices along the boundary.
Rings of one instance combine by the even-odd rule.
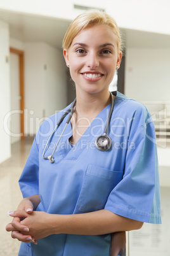
[[[105,125],[105,130],[104,130],[104,133],[100,136],[98,136],[98,138],[96,138],[96,141],[95,141],[95,145],[96,145],[96,148],[100,151],[107,151],[111,148],[112,146],[112,139],[107,135],[107,131],[108,131],[108,125],[110,124],[110,118],[112,117],[112,112],[114,110],[114,97],[112,95],[112,93],[110,92],[110,99],[111,99],[111,103],[110,103],[110,111],[108,113],[108,118],[107,118],[107,123]],[[72,105],[70,106],[70,108],[65,111],[65,113],[63,113],[62,117],[60,118],[60,120],[58,121],[58,123],[56,124],[56,127],[55,129],[53,130],[53,132],[51,133],[51,135],[49,136],[49,139],[46,143],[46,146],[44,148],[44,151],[42,153],[42,157],[43,159],[48,159],[49,162],[53,163],[55,162],[55,159],[53,157],[54,153],[55,153],[55,150],[56,150],[56,147],[58,146],[58,143],[60,142],[60,139],[62,138],[62,135],[63,135],[63,132],[65,131],[67,125],[69,124],[71,118],[72,118],[72,115],[73,115],[73,112],[74,112],[74,106],[76,104],[76,98],[74,99]],[[63,119],[68,115],[68,119],[66,121],[66,124],[65,124],[65,127],[63,128],[63,131],[60,135],[60,137],[58,138],[58,141],[56,142],[56,145],[55,145],[55,148],[53,150],[53,153],[51,155],[49,155],[48,157],[44,157],[44,154],[47,150],[47,147],[49,145],[49,141],[51,139],[51,137],[53,136],[53,134],[55,134],[56,130],[58,129],[58,127],[60,126],[60,124],[62,124],[63,122]]]

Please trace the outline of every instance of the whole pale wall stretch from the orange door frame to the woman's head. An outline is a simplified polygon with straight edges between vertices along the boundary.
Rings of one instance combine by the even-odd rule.
[[[62,52],[46,43],[25,43],[25,135],[35,134],[42,118],[67,106]]]

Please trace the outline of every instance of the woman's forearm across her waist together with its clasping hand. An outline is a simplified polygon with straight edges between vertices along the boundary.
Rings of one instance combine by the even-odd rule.
[[[108,210],[94,211],[75,215],[56,215],[43,211],[15,211],[11,217],[24,218],[20,223],[13,223],[7,231],[20,231],[25,235],[23,227],[29,228],[29,234],[34,239],[41,239],[52,234],[100,235],[119,231],[140,229],[142,222],[115,215]],[[12,227],[11,227],[12,226]],[[25,239],[23,236],[22,239]],[[23,241],[23,240],[21,240]]]

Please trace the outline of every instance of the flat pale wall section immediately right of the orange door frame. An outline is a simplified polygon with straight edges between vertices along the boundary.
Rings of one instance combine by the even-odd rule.
[[[44,72],[44,43],[25,43],[25,135],[43,116]]]

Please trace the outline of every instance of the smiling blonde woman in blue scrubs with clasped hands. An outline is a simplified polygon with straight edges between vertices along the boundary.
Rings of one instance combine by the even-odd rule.
[[[123,255],[125,231],[161,222],[154,125],[145,106],[108,90],[122,57],[112,17],[75,18],[63,55],[76,100],[39,128],[6,230],[22,241],[19,256]],[[107,134],[101,150],[96,138],[105,143]]]

